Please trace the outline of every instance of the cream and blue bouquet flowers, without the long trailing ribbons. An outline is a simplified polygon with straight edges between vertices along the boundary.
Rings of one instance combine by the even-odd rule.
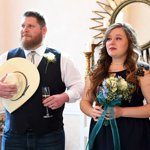
[[[131,100],[131,92],[134,89],[134,84],[127,82],[121,76],[105,79],[99,88],[99,95],[97,96],[99,103],[104,107],[110,107],[120,105],[122,100]],[[109,107],[110,106],[110,107]],[[103,125],[108,125],[109,120],[104,120]]]

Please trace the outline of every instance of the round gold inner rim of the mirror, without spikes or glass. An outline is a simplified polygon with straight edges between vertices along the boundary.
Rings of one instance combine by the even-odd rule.
[[[120,5],[117,6],[117,8],[114,10],[111,18],[110,18],[110,24],[113,24],[117,18],[117,15],[119,14],[119,12],[127,5],[132,4],[132,3],[145,3],[147,5],[150,6],[150,1],[149,0],[126,0],[124,2],[122,2]],[[145,50],[150,48],[150,41],[146,42],[145,44],[141,45],[141,50]]]

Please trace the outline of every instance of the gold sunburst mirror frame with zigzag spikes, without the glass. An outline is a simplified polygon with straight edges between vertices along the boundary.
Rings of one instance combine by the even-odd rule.
[[[118,13],[123,9],[125,6],[139,2],[139,3],[145,3],[150,6],[150,0],[106,0],[107,4],[104,2],[96,1],[96,3],[101,7],[102,10],[100,11],[93,11],[96,15],[98,15],[97,18],[91,18],[91,20],[99,23],[99,25],[91,27],[90,29],[97,30],[99,33],[93,38],[100,39],[99,43],[101,43],[101,39],[104,36],[104,33],[106,31],[106,26],[104,25],[104,20],[108,18],[107,26],[115,22],[115,19],[118,15]],[[99,44],[98,43],[98,44]],[[93,47],[96,47],[94,44]],[[141,50],[145,50],[150,48],[150,41],[146,42],[145,44],[140,45]]]

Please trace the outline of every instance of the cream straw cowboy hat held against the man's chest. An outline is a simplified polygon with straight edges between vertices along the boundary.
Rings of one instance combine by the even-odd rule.
[[[17,93],[10,99],[0,99],[8,112],[12,113],[35,93],[39,86],[40,75],[33,63],[20,57],[9,59],[0,66],[0,78],[6,74],[3,82],[15,84]]]

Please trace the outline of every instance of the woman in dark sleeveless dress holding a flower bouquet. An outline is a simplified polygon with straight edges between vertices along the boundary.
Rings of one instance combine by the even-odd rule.
[[[91,117],[86,149],[150,150],[150,66],[138,61],[137,50],[136,33],[129,24],[115,23],[107,29],[80,102],[83,113]],[[110,103],[103,103],[111,95],[103,88],[110,76],[124,78],[134,87],[128,90],[128,100],[122,96],[111,111],[105,110]]]

